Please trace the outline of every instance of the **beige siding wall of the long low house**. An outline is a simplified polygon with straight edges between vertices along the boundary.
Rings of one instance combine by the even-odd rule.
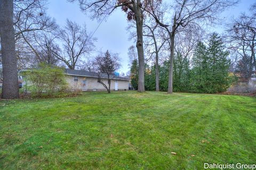
[[[74,81],[73,75],[66,75],[66,80],[70,90],[83,90],[83,80],[86,80],[86,89],[88,91],[92,90],[106,90],[101,83],[98,83],[97,78],[91,77],[78,77],[78,81]],[[105,84],[107,84],[107,79],[102,79]],[[115,81],[118,82],[118,90],[128,90],[129,81],[125,80],[111,80],[111,90],[115,90]]]

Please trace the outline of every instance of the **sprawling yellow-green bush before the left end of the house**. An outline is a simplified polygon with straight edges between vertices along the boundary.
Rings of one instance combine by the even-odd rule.
[[[67,90],[64,71],[61,67],[41,63],[38,68],[22,73],[26,90],[33,96],[52,96]]]

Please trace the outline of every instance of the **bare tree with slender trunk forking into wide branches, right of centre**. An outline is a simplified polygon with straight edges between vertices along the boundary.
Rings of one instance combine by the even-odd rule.
[[[234,5],[236,1],[229,0],[175,0],[174,14],[172,17],[172,24],[164,22],[164,14],[166,15],[166,8],[156,8],[158,4],[150,3],[151,11],[145,9],[150,13],[156,22],[163,27],[169,35],[170,41],[170,69],[169,69],[169,83],[168,93],[173,92],[173,58],[174,58],[174,40],[176,33],[182,31],[185,27],[201,27],[204,22],[213,23],[217,20],[217,14],[225,10],[226,7]],[[154,10],[153,10],[154,9]],[[163,10],[163,11],[162,11]],[[169,15],[169,14],[167,14]]]

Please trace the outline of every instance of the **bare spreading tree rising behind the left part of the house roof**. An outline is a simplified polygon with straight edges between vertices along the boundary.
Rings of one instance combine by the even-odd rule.
[[[60,32],[60,40],[63,41],[61,52],[52,51],[55,56],[64,62],[69,69],[75,69],[77,63],[82,60],[85,55],[90,55],[94,50],[91,35],[87,32],[86,26],[81,27],[76,22],[67,20],[64,30]]]

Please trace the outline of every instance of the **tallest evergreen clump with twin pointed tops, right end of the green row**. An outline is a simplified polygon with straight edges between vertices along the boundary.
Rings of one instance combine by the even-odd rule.
[[[230,85],[229,52],[217,33],[213,33],[206,47],[196,46],[191,71],[191,92],[216,93],[226,91]]]

